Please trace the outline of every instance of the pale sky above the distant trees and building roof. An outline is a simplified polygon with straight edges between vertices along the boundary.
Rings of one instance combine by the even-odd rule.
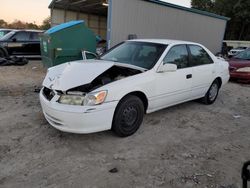
[[[7,22],[21,20],[40,25],[50,15],[48,6],[52,0],[1,0],[0,19]],[[163,0],[190,7],[190,0]]]

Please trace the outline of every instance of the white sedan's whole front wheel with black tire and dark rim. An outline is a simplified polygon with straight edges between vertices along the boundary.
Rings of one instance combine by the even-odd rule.
[[[134,134],[144,116],[144,105],[140,98],[128,95],[118,104],[112,123],[112,130],[120,137]]]

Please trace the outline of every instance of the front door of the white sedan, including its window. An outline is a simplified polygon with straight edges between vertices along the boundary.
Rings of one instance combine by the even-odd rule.
[[[189,67],[188,60],[185,44],[176,45],[168,51],[163,64],[176,64],[177,71],[155,74],[155,109],[178,104],[191,98],[192,67]]]

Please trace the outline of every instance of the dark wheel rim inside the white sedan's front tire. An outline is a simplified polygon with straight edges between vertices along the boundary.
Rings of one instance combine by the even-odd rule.
[[[124,109],[122,114],[122,122],[125,127],[131,127],[137,120],[138,112],[134,106],[129,106]]]

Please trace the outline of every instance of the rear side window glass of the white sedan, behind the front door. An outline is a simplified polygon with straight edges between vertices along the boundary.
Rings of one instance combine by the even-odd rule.
[[[191,66],[199,66],[213,63],[211,57],[202,47],[197,45],[189,45],[189,49],[191,54]]]

